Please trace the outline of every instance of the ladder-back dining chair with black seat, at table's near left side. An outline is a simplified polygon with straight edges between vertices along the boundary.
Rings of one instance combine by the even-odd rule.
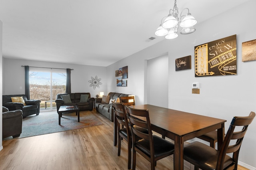
[[[174,144],[152,134],[148,110],[133,109],[127,105],[125,107],[132,128],[132,169],[136,168],[136,152],[138,152],[151,163],[151,170],[154,170],[157,160],[174,154]],[[141,132],[135,127],[146,128],[148,133]],[[136,136],[142,139],[136,140]]]

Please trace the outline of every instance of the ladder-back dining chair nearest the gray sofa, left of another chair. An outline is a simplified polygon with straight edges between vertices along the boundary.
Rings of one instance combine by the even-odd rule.
[[[118,156],[121,152],[121,138],[127,141],[128,144],[128,169],[131,168],[131,149],[132,149],[132,135],[129,128],[128,119],[126,116],[125,108],[123,103],[112,102],[114,109],[115,119],[117,123],[118,133]]]

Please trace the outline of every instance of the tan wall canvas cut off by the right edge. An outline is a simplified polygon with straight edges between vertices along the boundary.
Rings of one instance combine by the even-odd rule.
[[[242,43],[242,61],[256,60],[256,40]]]

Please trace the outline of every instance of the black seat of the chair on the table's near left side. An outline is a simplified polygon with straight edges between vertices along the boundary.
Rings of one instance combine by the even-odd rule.
[[[174,144],[171,142],[155,135],[153,135],[153,142],[155,157],[166,157],[166,155],[171,155],[173,153]],[[149,140],[142,139],[136,143],[136,146],[150,157],[149,144]]]

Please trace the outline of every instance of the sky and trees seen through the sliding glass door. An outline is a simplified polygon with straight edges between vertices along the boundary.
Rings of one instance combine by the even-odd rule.
[[[29,73],[30,99],[41,100],[40,108],[45,108],[45,101],[51,101],[51,91],[52,101],[55,101],[57,94],[65,93],[66,73],[52,73],[52,79],[50,72],[30,71]],[[50,102],[46,104],[49,108]],[[52,107],[56,107],[55,102],[52,102]]]

